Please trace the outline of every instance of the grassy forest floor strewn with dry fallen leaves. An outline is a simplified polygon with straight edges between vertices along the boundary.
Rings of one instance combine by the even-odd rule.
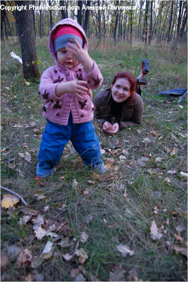
[[[27,86],[10,58],[9,51],[21,56],[19,43],[1,43],[1,185],[29,204],[1,207],[1,281],[187,281],[187,98],[178,105],[155,94],[187,87],[187,46],[97,44],[89,40],[101,88],[121,70],[138,76],[143,57],[151,61],[143,123],[112,137],[94,121],[106,179],[88,171],[68,143],[56,172],[36,185],[46,124],[39,81]],[[37,39],[37,55],[41,74],[53,65],[47,38]]]

